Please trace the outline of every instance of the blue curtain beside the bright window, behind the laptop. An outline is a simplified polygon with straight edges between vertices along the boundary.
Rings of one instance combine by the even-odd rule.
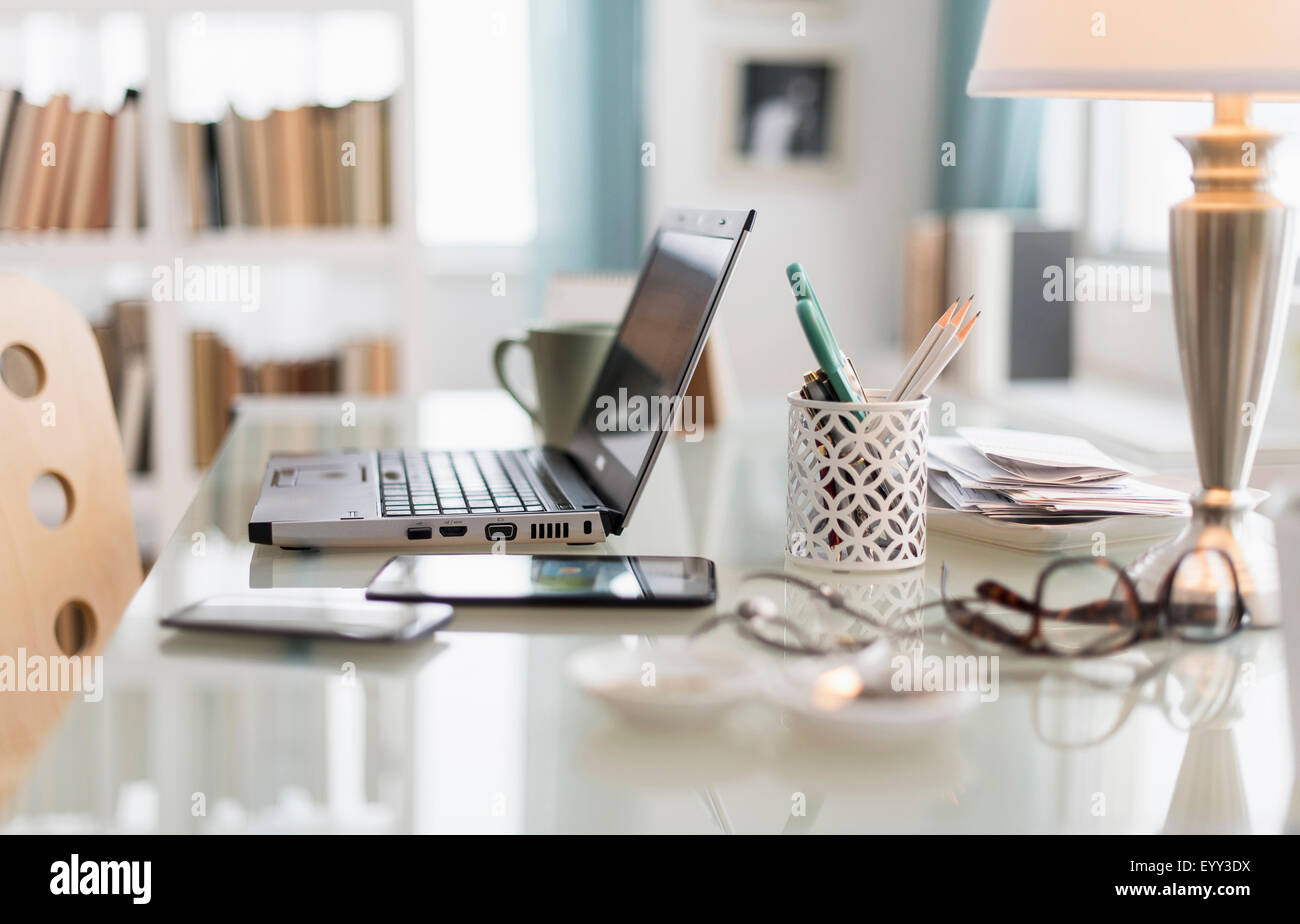
[[[641,261],[641,0],[532,0],[537,291]]]

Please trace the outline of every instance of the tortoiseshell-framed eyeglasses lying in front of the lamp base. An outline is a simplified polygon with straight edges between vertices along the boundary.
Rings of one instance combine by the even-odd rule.
[[[1212,556],[1223,567],[1228,581],[1228,594],[1214,603],[1175,599],[1175,578],[1183,563],[1192,556]],[[1217,558],[1214,558],[1217,556]],[[1043,591],[1053,574],[1083,565],[1110,569],[1115,577],[1115,591],[1110,598],[1074,607],[1046,607]],[[1117,595],[1118,594],[1118,595]],[[1017,632],[987,616],[975,604],[996,604],[1023,613],[1031,619],[1028,629]],[[948,619],[974,638],[1014,647],[1028,655],[1057,658],[1100,658],[1156,638],[1179,638],[1186,642],[1218,642],[1249,624],[1249,613],[1238,582],[1232,559],[1218,548],[1190,548],[1183,552],[1161,580],[1156,599],[1139,598],[1138,589],[1123,568],[1110,559],[1079,556],[1053,561],[1037,577],[1034,599],[1027,599],[997,581],[982,581],[974,598],[948,595],[948,565],[940,582],[940,599]],[[1092,626],[1101,634],[1091,641],[1066,646],[1049,638],[1048,625]],[[1109,632],[1106,632],[1109,630]]]

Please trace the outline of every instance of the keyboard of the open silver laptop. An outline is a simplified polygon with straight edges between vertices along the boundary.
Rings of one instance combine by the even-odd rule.
[[[543,511],[532,485],[511,477],[499,452],[380,452],[384,516],[464,516]]]

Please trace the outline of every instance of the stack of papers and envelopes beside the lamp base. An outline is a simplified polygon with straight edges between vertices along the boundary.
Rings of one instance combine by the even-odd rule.
[[[1187,494],[1132,477],[1086,439],[959,428],[930,438],[930,489],[944,504],[1017,522],[1182,516]]]

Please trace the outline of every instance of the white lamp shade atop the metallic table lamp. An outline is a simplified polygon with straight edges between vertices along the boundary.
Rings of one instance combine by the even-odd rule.
[[[1300,99],[1300,0],[992,0],[972,96]]]

